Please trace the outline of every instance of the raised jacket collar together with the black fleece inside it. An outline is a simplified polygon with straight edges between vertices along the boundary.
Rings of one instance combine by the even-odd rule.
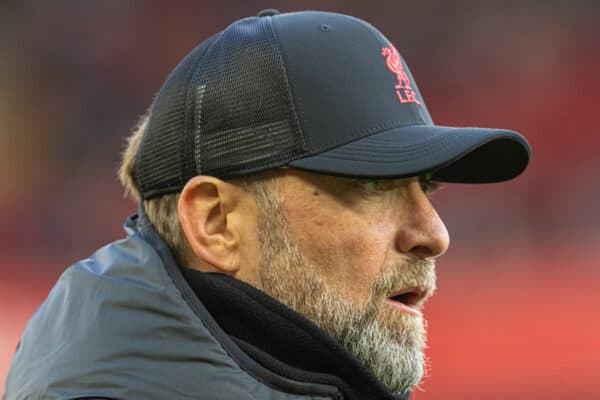
[[[340,399],[410,397],[410,392],[403,396],[389,392],[337,340],[264,292],[223,274],[178,268],[143,207],[130,223],[135,223],[156,250],[185,300],[242,368],[254,369],[254,363],[258,363],[287,380],[318,388],[337,387]],[[273,379],[262,370],[258,375],[263,380]]]

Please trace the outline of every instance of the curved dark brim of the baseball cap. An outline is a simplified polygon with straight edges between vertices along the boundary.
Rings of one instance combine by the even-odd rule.
[[[491,183],[515,178],[530,148],[517,132],[489,128],[412,125],[363,137],[288,163],[331,175],[406,178],[432,172],[435,180]]]

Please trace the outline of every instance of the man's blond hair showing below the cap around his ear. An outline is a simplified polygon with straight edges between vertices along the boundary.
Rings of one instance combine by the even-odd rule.
[[[125,196],[135,202],[140,201],[140,192],[133,174],[133,163],[140,147],[144,131],[150,119],[150,111],[142,115],[131,135],[127,138],[123,151],[118,177],[125,189]],[[237,184],[254,195],[257,204],[268,204],[272,200],[271,179],[268,172],[260,172],[243,178],[231,179],[228,182]],[[178,204],[180,193],[166,194],[150,200],[142,205],[148,220],[154,229],[171,249],[177,264],[184,267],[188,264],[192,251],[179,222]]]

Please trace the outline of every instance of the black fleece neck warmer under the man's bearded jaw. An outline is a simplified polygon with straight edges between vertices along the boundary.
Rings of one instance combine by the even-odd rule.
[[[260,290],[223,274],[183,268],[192,290],[219,326],[255,361],[301,382],[337,386],[346,400],[406,400],[314,323]]]

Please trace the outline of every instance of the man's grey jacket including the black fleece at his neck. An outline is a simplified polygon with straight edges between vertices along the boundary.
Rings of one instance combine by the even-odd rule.
[[[192,288],[143,213],[125,231],[62,274],[23,333],[4,400],[395,398],[331,338],[262,292],[209,274],[197,275],[211,279],[204,289]],[[244,299],[231,307],[246,304],[248,312],[209,311],[201,298],[220,291]],[[236,333],[232,313],[250,325],[263,319],[256,325],[272,337]],[[298,341],[310,347],[298,351]],[[319,357],[304,359],[311,348]]]

